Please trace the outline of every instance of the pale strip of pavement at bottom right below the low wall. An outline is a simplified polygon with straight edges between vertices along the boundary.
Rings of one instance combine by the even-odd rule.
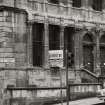
[[[70,101],[69,105],[94,105],[94,104],[99,104],[103,102],[104,102],[103,100],[100,100],[99,98],[94,97],[94,98],[86,98],[86,99],[81,99],[76,101]],[[59,103],[54,105],[67,105],[67,103],[64,102],[63,104]]]

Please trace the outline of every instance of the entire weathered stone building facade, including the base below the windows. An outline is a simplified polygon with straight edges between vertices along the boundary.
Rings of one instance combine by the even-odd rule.
[[[64,86],[66,49],[73,55],[72,82],[97,82],[104,76],[104,6],[104,0],[0,0],[1,99],[8,85],[59,86],[58,70],[49,65],[50,50],[64,52]]]

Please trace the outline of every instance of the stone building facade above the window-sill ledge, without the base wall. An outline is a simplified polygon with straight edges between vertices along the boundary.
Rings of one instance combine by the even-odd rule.
[[[1,1],[1,67],[49,67],[49,50],[73,54],[69,68],[104,72],[104,1]],[[2,29],[3,28],[3,29]],[[67,46],[66,46],[67,44]]]

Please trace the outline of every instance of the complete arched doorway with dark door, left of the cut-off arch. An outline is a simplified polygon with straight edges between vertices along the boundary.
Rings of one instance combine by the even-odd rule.
[[[94,72],[94,41],[92,34],[86,33],[83,37],[83,67]]]

